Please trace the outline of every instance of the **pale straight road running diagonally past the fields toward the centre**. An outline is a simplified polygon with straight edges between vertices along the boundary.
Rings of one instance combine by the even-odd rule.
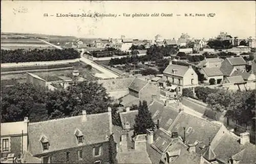
[[[100,72],[102,72],[102,74],[104,74],[105,77],[108,77],[108,78],[117,78],[119,77],[118,75],[114,74],[113,72],[109,71],[109,69],[106,69],[102,66],[99,66],[98,64],[96,64],[95,62],[87,59],[87,58],[84,58],[83,57],[83,52],[81,52],[80,54],[80,61],[86,63],[86,64],[90,64],[92,65],[92,67],[94,67],[95,69],[98,69]]]

